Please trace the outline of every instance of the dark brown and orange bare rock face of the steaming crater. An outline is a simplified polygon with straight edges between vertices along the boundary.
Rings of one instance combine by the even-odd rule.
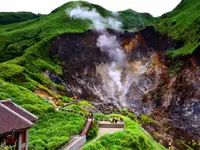
[[[179,59],[180,69],[173,74],[173,61],[165,55],[182,45],[152,27],[135,33],[87,31],[53,39],[50,55],[62,62],[68,96],[90,100],[104,113],[126,108],[150,115],[163,128],[146,129],[165,135],[160,142],[168,147],[171,140],[200,136],[199,51]]]

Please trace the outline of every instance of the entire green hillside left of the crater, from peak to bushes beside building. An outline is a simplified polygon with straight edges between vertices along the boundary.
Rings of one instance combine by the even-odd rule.
[[[39,117],[39,121],[30,131],[32,150],[58,149],[68,142],[72,135],[80,132],[84,125],[82,116],[55,112],[46,99],[34,92],[36,89],[43,90],[60,105],[65,101],[62,94],[65,93],[65,88],[44,77],[43,72],[48,70],[62,75],[59,62],[53,61],[49,56],[48,49],[52,38],[63,33],[84,32],[90,28],[90,21],[72,19],[66,14],[66,9],[74,8],[77,4],[95,8],[103,17],[112,16],[112,12],[87,2],[69,2],[49,15],[37,17],[23,13],[0,14],[0,22],[4,24],[0,25],[0,99],[11,98]],[[132,18],[131,12],[128,18],[123,19],[126,13],[120,12],[122,16],[119,17],[123,22]],[[137,21],[134,24],[143,27],[143,24],[140,24],[142,15],[138,20],[133,17],[132,20]],[[133,27],[131,23],[128,26]],[[52,92],[51,89],[58,92]]]

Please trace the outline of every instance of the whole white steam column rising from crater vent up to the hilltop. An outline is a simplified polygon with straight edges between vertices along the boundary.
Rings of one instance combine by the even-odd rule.
[[[120,42],[115,35],[111,35],[106,31],[106,28],[121,31],[122,23],[113,17],[102,17],[94,8],[89,10],[86,7],[77,6],[72,10],[66,10],[66,12],[72,18],[88,19],[92,22],[93,27],[100,34],[96,45],[103,53],[106,53],[110,59],[109,63],[97,66],[97,72],[102,78],[102,87],[104,90],[99,93],[99,97],[102,97],[103,93],[104,99],[107,97],[108,100],[116,102],[118,107],[125,105],[124,99],[131,86],[131,83],[127,80],[131,78],[131,73],[128,71],[129,67],[126,61],[126,54]],[[117,13],[113,14],[113,16],[118,15]],[[125,74],[124,80],[122,79],[123,73]]]

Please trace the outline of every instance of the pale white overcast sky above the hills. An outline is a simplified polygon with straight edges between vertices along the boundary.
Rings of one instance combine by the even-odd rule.
[[[31,11],[48,14],[68,0],[0,0],[0,11]],[[112,11],[131,8],[137,12],[148,12],[160,16],[174,9],[181,0],[87,0]]]

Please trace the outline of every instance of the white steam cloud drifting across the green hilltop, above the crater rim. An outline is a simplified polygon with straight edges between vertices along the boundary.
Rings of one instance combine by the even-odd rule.
[[[66,10],[66,13],[75,19],[88,19],[92,21],[96,30],[104,30],[106,27],[120,31],[122,23],[113,17],[104,18],[96,9],[89,10],[87,7],[77,6],[74,9]]]

